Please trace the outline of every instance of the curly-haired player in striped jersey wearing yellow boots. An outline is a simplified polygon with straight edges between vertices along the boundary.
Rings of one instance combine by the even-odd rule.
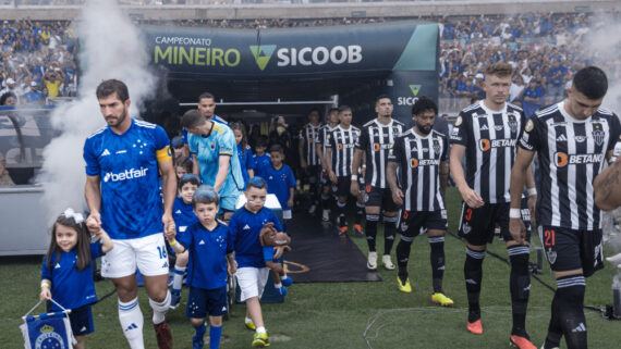
[[[421,97],[412,107],[416,125],[404,132],[388,155],[388,184],[392,200],[403,205],[401,239],[397,245],[397,283],[403,292],[411,292],[407,278],[407,260],[414,238],[421,229],[427,229],[431,248],[431,277],[434,292],[431,301],[452,306],[453,301],[442,290],[445,274],[445,234],[447,233],[447,210],[445,191],[449,178],[447,135],[431,129],[438,107],[428,97]],[[400,170],[401,186],[397,183]],[[403,192],[405,191],[405,192]]]

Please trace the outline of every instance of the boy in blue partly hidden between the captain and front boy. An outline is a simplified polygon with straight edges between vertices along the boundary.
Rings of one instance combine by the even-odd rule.
[[[176,235],[184,236],[187,227],[198,222],[198,217],[194,214],[194,207],[192,205],[192,196],[196,188],[200,185],[200,177],[195,174],[183,175],[179,179],[179,197],[174,199],[172,204],[172,217],[176,226]],[[172,253],[175,253],[172,248]],[[176,261],[174,262],[174,275],[172,276],[172,289],[170,295],[170,308],[176,309],[181,302],[181,286],[183,284],[183,275],[187,267],[187,252],[176,253]]]

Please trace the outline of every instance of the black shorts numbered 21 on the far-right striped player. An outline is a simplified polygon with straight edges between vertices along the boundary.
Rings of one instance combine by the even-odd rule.
[[[539,238],[555,272],[582,269],[584,276],[590,276],[604,269],[601,229],[574,230],[539,226]]]

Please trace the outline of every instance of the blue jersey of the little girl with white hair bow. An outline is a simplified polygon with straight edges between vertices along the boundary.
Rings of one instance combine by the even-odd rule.
[[[56,258],[56,252],[50,255],[50,267],[47,267],[47,259],[44,259],[41,267],[41,279],[51,281],[50,292],[52,299],[66,309],[76,309],[82,306],[97,301],[95,295],[95,283],[93,282],[93,263],[95,259],[104,255],[101,244],[90,244],[90,263],[82,272],[75,267],[77,253],[75,249],[69,252],[61,252],[60,259]],[[61,310],[52,303],[52,311]]]

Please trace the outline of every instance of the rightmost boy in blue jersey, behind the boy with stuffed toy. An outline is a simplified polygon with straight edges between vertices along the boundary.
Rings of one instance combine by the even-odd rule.
[[[282,208],[283,228],[287,232],[287,222],[291,220],[291,209],[293,208],[295,177],[291,167],[282,163],[284,150],[280,145],[273,145],[269,148],[269,157],[271,165],[264,169],[267,192],[273,194],[278,198]]]

